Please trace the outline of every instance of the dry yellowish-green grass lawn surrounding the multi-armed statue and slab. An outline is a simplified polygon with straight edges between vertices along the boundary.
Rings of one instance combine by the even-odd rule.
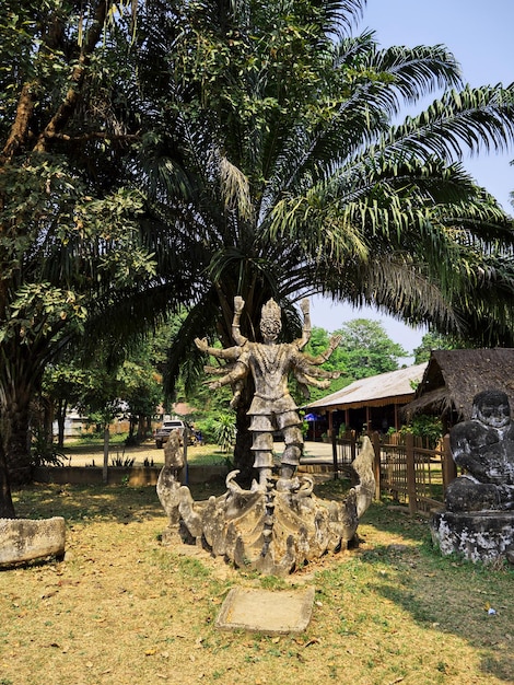
[[[340,486],[318,495],[336,499]],[[66,516],[68,552],[0,572],[0,685],[514,682],[514,569],[440,557],[427,521],[398,508],[373,504],[358,549],[279,580],[163,547],[153,487],[45,485],[14,499],[20,516]],[[218,630],[235,585],[314,587],[307,630]]]

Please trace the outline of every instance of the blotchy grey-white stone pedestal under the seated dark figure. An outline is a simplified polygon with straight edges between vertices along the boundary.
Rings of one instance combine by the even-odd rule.
[[[440,511],[430,524],[432,539],[443,555],[457,554],[468,561],[514,561],[514,512]]]

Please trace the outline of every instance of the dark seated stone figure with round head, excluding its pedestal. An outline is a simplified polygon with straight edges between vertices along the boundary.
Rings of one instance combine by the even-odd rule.
[[[476,395],[471,419],[452,428],[449,444],[465,474],[447,488],[447,510],[514,509],[514,425],[507,395],[498,390]]]

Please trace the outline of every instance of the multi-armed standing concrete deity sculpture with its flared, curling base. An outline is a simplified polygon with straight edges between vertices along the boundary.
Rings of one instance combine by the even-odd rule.
[[[302,337],[291,344],[278,344],[280,307],[270,300],[262,307],[264,342],[252,342],[240,333],[243,300],[235,298],[234,305],[232,332],[236,346],[211,348],[199,339],[196,344],[202,351],[231,362],[227,372],[209,387],[215,390],[231,384],[233,405],[241,394],[241,384],[248,374],[253,375],[255,396],[248,414],[258,483],[254,481],[249,490],[244,490],[235,480],[238,472],[232,472],[226,478],[225,495],[195,502],[189,489],[176,478],[167,479],[164,487],[163,476],[157,492],[171,524],[163,542],[172,538],[178,526],[183,539],[205,544],[215,556],[223,556],[237,567],[281,576],[326,552],[346,548],[354,538],[359,518],[374,492],[374,452],[367,440],[355,460],[360,483],[350,490],[344,502],[327,502],[314,496],[313,479],[296,475],[303,437],[288,376],[294,374],[302,385],[327,387],[329,379],[338,374],[318,367],[328,359],[339,338],[332,337],[329,349],[318,357],[302,352],[311,334],[305,300],[302,302],[305,317]],[[281,432],[285,445],[278,477],[273,475],[273,431]]]

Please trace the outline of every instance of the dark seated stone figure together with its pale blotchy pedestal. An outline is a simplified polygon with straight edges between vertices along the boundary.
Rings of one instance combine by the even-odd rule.
[[[469,421],[449,433],[453,457],[465,473],[446,491],[432,536],[443,554],[477,561],[514,561],[514,425],[509,397],[488,390],[474,398]]]

